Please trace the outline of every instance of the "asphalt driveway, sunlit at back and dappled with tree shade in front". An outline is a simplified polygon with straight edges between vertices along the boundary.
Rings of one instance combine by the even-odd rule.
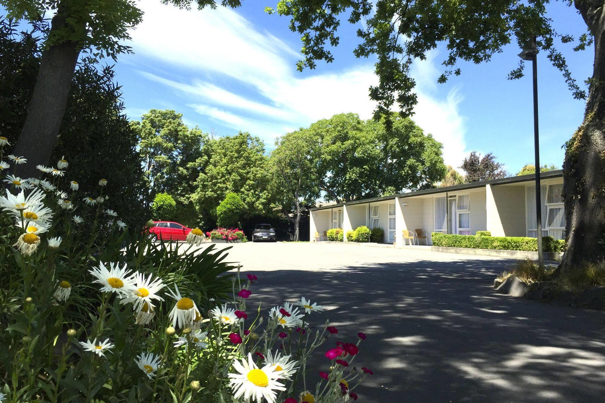
[[[368,339],[371,402],[604,401],[605,315],[494,293],[513,261],[327,243],[236,244],[259,281],[250,304],[301,296],[326,312],[338,340]],[[322,351],[323,352],[323,351]],[[318,352],[312,367],[327,370]]]

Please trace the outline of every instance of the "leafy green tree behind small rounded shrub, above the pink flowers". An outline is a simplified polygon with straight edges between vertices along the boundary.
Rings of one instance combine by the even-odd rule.
[[[273,211],[270,175],[264,143],[249,133],[210,140],[204,145],[203,171],[195,182],[192,200],[198,214],[210,224],[216,220],[216,206],[227,193],[237,192],[245,206],[245,220],[250,215]]]

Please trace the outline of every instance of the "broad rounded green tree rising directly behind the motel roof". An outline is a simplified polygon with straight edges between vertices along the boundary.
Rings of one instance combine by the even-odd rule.
[[[318,188],[327,200],[351,201],[403,189],[430,188],[446,173],[437,142],[409,118],[363,121],[338,114],[309,126],[315,137]]]

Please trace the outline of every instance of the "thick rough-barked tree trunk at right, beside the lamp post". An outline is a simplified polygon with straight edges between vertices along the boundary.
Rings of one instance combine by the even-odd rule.
[[[605,35],[603,1],[575,2],[595,38],[595,64],[584,122],[567,143],[563,165],[566,272],[605,258]]]

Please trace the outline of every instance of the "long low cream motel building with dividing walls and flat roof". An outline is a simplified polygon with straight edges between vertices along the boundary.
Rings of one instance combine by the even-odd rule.
[[[327,230],[347,231],[358,226],[384,229],[383,243],[404,246],[405,234],[475,235],[490,231],[494,237],[537,237],[535,175],[522,175],[446,188],[425,189],[310,209],[310,241],[327,241]],[[563,171],[542,172],[542,235],[565,237]],[[411,240],[405,240],[410,243]],[[414,241],[424,244],[424,238]]]

